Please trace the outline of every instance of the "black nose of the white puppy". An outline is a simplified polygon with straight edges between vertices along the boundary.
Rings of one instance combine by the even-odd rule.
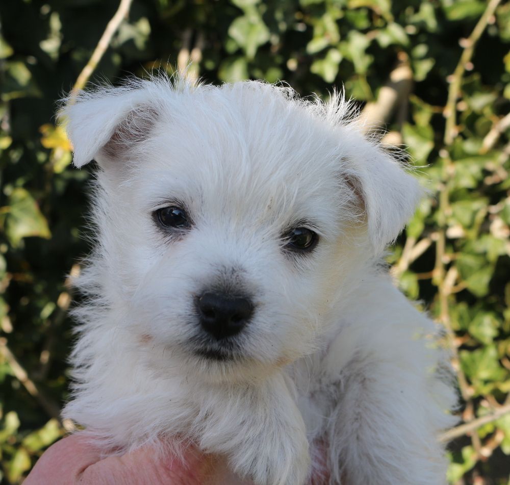
[[[217,340],[238,334],[253,313],[249,299],[221,293],[202,293],[196,307],[202,328]]]

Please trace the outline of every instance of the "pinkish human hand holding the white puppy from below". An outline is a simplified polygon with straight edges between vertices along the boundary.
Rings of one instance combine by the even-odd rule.
[[[190,446],[183,460],[145,446],[101,459],[80,434],[64,438],[39,458],[23,485],[249,485],[221,458]]]

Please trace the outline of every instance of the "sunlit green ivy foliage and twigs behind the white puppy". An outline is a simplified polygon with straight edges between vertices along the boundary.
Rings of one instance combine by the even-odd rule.
[[[65,275],[88,250],[88,173],[69,165],[55,100],[117,7],[0,2],[2,483],[20,483],[64,432]],[[211,82],[285,80],[303,95],[343,83],[369,124],[409,146],[431,194],[390,262],[453,350],[467,424],[452,435],[450,483],[510,483],[509,41],[499,0],[134,0],[95,68],[116,83],[191,57]]]

